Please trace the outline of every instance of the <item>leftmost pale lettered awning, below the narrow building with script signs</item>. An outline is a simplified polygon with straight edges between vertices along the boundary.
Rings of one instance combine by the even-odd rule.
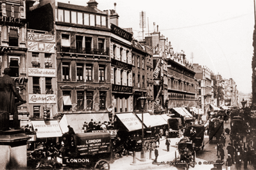
[[[38,120],[31,121],[34,130],[37,129],[37,137],[61,137],[62,130],[58,123],[58,120]]]

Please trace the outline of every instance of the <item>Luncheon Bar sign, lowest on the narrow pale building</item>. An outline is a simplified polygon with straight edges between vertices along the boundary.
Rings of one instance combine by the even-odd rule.
[[[30,94],[29,104],[56,104],[56,95]]]

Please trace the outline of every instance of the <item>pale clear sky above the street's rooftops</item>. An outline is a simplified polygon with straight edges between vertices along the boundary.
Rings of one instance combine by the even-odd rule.
[[[84,6],[89,2],[59,1]],[[232,78],[238,91],[252,93],[253,0],[96,1],[101,11],[114,10],[117,3],[119,27],[132,27],[137,40],[142,39],[139,13],[146,12],[144,36],[154,31],[155,22],[175,52],[183,50],[191,63],[207,66],[224,79]]]

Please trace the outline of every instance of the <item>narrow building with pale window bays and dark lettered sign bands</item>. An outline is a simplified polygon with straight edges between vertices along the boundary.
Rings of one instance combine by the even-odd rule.
[[[118,24],[118,14],[110,11],[112,22]],[[133,112],[132,33],[111,24],[110,58],[112,105],[114,114]]]

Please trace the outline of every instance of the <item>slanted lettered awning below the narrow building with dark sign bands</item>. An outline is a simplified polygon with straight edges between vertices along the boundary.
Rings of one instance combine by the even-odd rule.
[[[124,124],[128,131],[139,130],[142,128],[141,121],[139,121],[139,119],[132,112],[115,115]]]

